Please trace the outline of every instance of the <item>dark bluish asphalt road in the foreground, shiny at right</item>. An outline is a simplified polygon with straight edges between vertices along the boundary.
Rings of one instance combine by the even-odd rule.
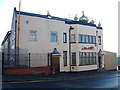
[[[69,80],[6,82],[3,83],[3,88],[118,88],[119,77],[120,72],[110,71]]]

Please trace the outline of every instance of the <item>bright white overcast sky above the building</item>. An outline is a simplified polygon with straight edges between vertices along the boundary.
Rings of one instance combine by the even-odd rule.
[[[72,19],[85,16],[103,27],[103,48],[118,53],[118,1],[119,0],[21,0],[21,11]],[[14,7],[19,0],[0,0],[0,44],[11,30]]]

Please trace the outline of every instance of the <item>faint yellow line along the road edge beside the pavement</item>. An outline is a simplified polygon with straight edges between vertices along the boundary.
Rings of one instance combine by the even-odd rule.
[[[38,82],[53,82],[53,81],[64,81],[64,80],[76,80],[76,79],[85,79],[85,78],[92,78],[94,76],[88,77],[74,77],[74,78],[57,78],[57,79],[44,79],[44,80],[27,80],[27,81],[3,81],[3,84],[17,84],[17,83],[38,83]]]

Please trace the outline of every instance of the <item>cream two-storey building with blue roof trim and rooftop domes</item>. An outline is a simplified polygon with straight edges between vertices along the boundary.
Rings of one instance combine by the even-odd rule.
[[[104,68],[103,29],[100,23],[88,22],[84,12],[79,20],[77,16],[70,20],[49,12],[41,15],[20,11],[19,35],[18,16],[19,11],[14,8],[11,31],[1,44],[2,51],[8,54],[9,65],[11,60],[22,65],[21,59],[28,60],[26,53],[29,53],[31,59],[25,64],[29,67],[53,66],[55,72]]]

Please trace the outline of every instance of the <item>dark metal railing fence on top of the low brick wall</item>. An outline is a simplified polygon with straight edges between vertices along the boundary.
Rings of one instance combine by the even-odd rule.
[[[48,66],[47,53],[2,53],[4,67],[43,67]]]

